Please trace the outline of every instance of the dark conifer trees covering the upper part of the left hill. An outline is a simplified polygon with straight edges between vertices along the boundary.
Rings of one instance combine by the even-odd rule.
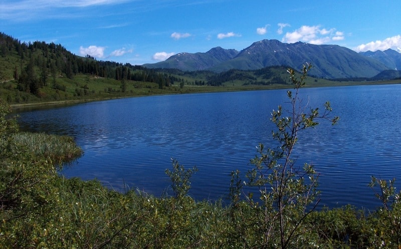
[[[49,76],[53,78],[53,88],[58,88],[56,77],[73,79],[77,73],[116,80],[156,82],[160,87],[170,86],[179,80],[169,73],[161,73],[141,65],[96,60],[89,54],[85,57],[77,56],[54,42],[22,42],[3,32],[0,32],[0,53],[3,57],[19,57],[20,63],[13,70],[14,79],[18,81],[17,88],[33,94],[47,85]]]

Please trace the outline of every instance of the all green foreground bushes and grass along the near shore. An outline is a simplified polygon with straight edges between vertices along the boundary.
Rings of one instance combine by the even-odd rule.
[[[277,148],[264,149],[246,173],[232,172],[231,202],[195,201],[187,195],[196,167],[172,160],[166,169],[172,195],[116,192],[96,180],[66,179],[57,165],[82,151],[68,137],[19,133],[0,100],[0,244],[17,248],[401,248],[401,202],[394,180],[372,177],[383,204],[374,212],[352,206],[317,210],[318,174],[292,159],[298,132],[335,123],[331,107],[301,106],[305,85],[289,69],[295,91],[289,112],[280,105],[271,120]],[[286,108],[286,107],[285,107]],[[305,110],[306,112],[304,112]],[[285,116],[288,113],[289,116]],[[245,184],[245,185],[244,185]],[[255,190],[253,190],[255,189]],[[247,193],[242,196],[243,193]]]

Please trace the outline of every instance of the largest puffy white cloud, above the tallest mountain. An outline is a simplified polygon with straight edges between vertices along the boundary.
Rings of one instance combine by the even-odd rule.
[[[344,33],[336,31],[335,28],[320,28],[319,25],[303,25],[293,32],[287,32],[283,37],[283,42],[294,43],[297,41],[308,42],[311,44],[324,44],[333,40],[343,40]]]

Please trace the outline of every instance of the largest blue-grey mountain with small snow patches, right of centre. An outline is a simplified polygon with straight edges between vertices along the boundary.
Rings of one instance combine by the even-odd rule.
[[[311,75],[325,78],[372,77],[388,69],[379,61],[338,45],[314,45],[304,42],[282,43],[261,40],[242,50],[235,58],[213,69],[258,69],[272,65],[300,68],[305,62],[314,66]]]

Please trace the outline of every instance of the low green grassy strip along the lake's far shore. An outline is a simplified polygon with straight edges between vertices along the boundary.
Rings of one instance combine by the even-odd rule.
[[[289,88],[289,85],[244,85],[244,81],[234,80],[223,86],[194,85],[193,78],[187,78],[187,84],[166,86],[160,89],[154,82],[141,82],[127,80],[125,92],[121,91],[121,81],[112,78],[100,78],[91,75],[77,74],[73,79],[58,77],[59,85],[64,85],[65,90],[43,87],[39,96],[15,90],[15,80],[0,83],[0,97],[3,97],[13,108],[23,108],[35,105],[54,105],[97,101],[120,97],[148,96],[157,94],[179,94],[195,92],[221,92],[221,91],[244,91],[244,90],[266,90]],[[371,85],[371,84],[398,84],[399,80],[382,81],[333,81],[328,79],[307,78],[306,87],[326,87],[345,85]]]

